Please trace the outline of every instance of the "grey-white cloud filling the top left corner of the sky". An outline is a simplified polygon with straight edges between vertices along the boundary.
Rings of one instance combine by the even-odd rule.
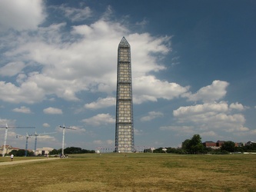
[[[0,1],[0,28],[36,29],[45,20],[43,0]]]

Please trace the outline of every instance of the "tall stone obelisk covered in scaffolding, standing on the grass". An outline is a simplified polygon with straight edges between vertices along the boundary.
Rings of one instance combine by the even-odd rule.
[[[131,153],[135,151],[131,86],[131,49],[125,37],[121,39],[118,45],[117,76],[115,151]]]

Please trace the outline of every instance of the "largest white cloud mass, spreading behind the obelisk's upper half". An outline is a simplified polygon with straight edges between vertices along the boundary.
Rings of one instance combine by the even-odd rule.
[[[75,11],[72,9],[70,12]],[[116,89],[117,47],[123,35],[131,44],[132,73],[134,84],[138,84],[134,90],[135,103],[171,99],[188,90],[148,76],[151,71],[165,69],[161,65],[161,57],[171,51],[171,37],[132,34],[121,22],[99,18],[88,25],[74,25],[69,31],[66,31],[65,23],[56,23],[38,27],[33,33],[10,33],[8,41],[0,39],[8,50],[4,52],[8,62],[5,63],[5,59],[1,61],[1,73],[17,75],[18,82],[0,81],[0,91],[8,91],[8,97],[1,94],[0,99],[33,104],[56,95],[67,101],[79,101],[77,94],[81,91],[99,91],[111,98]],[[14,38],[15,45],[8,44]],[[10,71],[14,65],[17,68]],[[141,94],[141,88],[146,91],[145,94]],[[93,105],[98,108],[98,102],[85,108],[92,108]]]

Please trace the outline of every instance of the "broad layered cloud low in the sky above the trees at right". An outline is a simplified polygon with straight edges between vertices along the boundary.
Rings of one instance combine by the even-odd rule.
[[[193,124],[194,131],[207,133],[208,131],[240,132],[248,131],[244,127],[243,114],[233,114],[226,102],[211,104],[196,104],[180,107],[173,111],[178,124]]]

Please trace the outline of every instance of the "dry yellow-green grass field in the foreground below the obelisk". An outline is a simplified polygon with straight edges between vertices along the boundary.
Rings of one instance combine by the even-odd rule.
[[[0,164],[5,160],[10,161],[0,157]],[[256,154],[69,155],[0,166],[0,187],[1,191],[256,191]]]

